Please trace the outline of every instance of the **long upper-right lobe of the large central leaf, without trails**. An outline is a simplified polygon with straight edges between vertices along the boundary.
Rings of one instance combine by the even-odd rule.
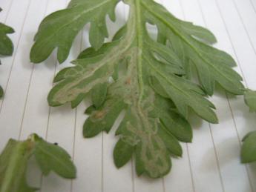
[[[191,23],[176,19],[163,6],[153,1],[141,2],[142,7],[151,15],[151,22],[157,25],[160,33],[162,32],[162,38],[164,36],[171,43],[174,52],[180,56],[187,76],[191,76],[188,65],[192,63],[197,70],[200,84],[209,95],[214,92],[215,82],[230,93],[243,94],[242,78],[231,68],[236,65],[234,59],[229,54],[198,41],[202,39],[206,42],[215,42],[208,30],[202,27],[191,27]],[[194,31],[201,32],[194,33]]]

